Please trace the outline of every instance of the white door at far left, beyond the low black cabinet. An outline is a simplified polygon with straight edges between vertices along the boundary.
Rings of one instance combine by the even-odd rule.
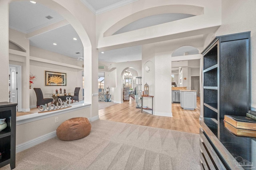
[[[18,103],[18,82],[16,67],[9,66],[10,69],[10,102]]]

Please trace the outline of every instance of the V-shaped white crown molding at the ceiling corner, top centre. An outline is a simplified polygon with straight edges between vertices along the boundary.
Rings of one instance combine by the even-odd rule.
[[[91,6],[91,4],[89,4],[89,3],[87,2],[87,0],[81,0],[81,1],[82,1],[94,14],[98,15],[98,14],[102,14],[102,13],[104,13],[104,12],[113,10],[113,9],[115,9],[115,8],[119,8],[119,7],[121,7],[121,6],[130,4],[130,3],[132,3],[132,2],[136,2],[136,1],[138,1],[138,0],[122,0],[122,1],[120,1],[120,2],[118,2],[118,3],[115,3],[115,4],[112,4],[112,5],[110,5],[110,6],[106,6],[106,7],[104,7],[104,8],[101,8],[100,10],[95,10],[95,9]]]

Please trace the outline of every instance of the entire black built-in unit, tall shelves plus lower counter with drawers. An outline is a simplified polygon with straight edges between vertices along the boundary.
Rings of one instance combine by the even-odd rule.
[[[232,134],[223,119],[224,115],[246,116],[250,110],[250,32],[218,36],[202,55],[201,168],[246,169],[255,162],[256,138]]]

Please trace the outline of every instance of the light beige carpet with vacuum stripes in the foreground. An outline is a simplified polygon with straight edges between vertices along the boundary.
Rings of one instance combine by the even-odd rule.
[[[83,139],[16,154],[15,170],[199,170],[199,152],[198,134],[97,120]]]

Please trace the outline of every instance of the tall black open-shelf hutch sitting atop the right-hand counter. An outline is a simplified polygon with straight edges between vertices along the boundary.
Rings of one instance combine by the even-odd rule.
[[[224,119],[250,109],[250,32],[216,37],[202,52],[203,117]]]

